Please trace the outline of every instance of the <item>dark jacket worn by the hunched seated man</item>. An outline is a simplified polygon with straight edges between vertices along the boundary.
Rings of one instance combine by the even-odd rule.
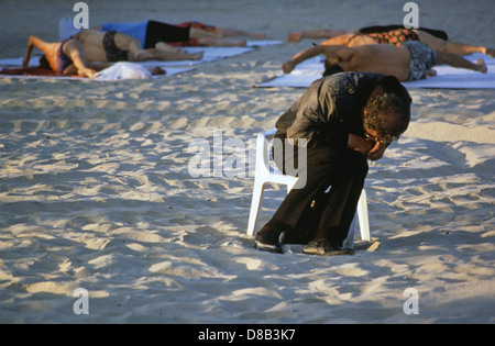
[[[342,72],[315,81],[276,122],[277,137],[306,138],[308,146],[346,148],[350,133],[364,136],[363,108],[378,83],[389,92],[409,93],[392,76]],[[388,89],[388,90],[387,90]]]

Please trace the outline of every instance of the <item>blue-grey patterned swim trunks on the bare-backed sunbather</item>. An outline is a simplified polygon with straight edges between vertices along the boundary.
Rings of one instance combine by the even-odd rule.
[[[407,81],[425,79],[427,71],[437,65],[437,52],[419,41],[405,42],[403,46],[407,47],[410,54]]]

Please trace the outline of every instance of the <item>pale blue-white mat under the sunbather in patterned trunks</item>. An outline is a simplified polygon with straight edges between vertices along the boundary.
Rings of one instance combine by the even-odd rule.
[[[475,53],[465,57],[471,62],[479,58],[485,60],[488,67],[487,74],[480,74],[463,68],[454,68],[447,65],[436,66],[438,75],[422,80],[407,81],[407,88],[432,88],[432,89],[495,89],[495,58]],[[257,83],[257,88],[308,88],[315,80],[321,78],[323,72],[322,58],[317,57],[298,65],[288,75],[277,75],[274,79]]]

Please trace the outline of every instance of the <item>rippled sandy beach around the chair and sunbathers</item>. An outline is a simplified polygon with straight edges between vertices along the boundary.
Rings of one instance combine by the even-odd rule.
[[[410,90],[408,131],[370,165],[372,242],[354,256],[246,235],[251,144],[304,92],[253,88],[311,45],[287,34],[400,24],[406,1],[86,2],[90,25],[196,20],[283,44],[158,79],[0,78],[0,323],[495,323],[495,90]],[[0,3],[0,58],[58,40],[73,3]],[[495,46],[492,0],[416,3],[421,26]],[[240,168],[193,177],[198,139],[242,141]],[[260,224],[285,191],[267,187]]]

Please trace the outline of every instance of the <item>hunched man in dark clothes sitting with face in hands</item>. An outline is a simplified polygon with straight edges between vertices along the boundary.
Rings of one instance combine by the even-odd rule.
[[[298,238],[311,255],[352,255],[342,248],[367,175],[367,159],[378,160],[408,127],[411,98],[393,76],[343,72],[315,81],[277,122],[276,138],[289,142],[274,153],[282,171],[299,163],[297,141],[306,139],[298,171],[306,183],[292,189],[254,237],[261,250],[283,253],[284,239]],[[277,159],[279,157],[280,159]],[[329,193],[326,193],[331,186]],[[287,241],[287,243],[292,243]]]

